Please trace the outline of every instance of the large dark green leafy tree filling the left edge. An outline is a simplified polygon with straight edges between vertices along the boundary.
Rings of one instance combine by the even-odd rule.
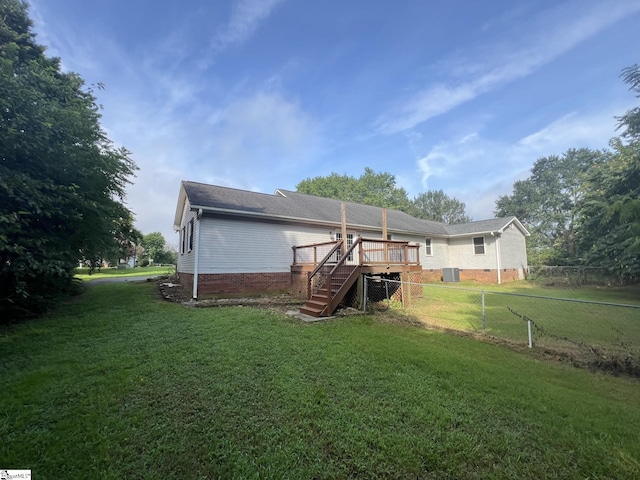
[[[0,1],[0,316],[65,291],[79,258],[131,230],[123,205],[135,165],[100,127],[96,99],[45,56],[27,4]]]

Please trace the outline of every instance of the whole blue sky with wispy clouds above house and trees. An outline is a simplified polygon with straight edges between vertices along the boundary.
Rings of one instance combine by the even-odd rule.
[[[181,180],[272,193],[365,167],[475,219],[539,157],[605,148],[637,99],[640,0],[29,0],[140,167],[127,202],[172,232]]]

